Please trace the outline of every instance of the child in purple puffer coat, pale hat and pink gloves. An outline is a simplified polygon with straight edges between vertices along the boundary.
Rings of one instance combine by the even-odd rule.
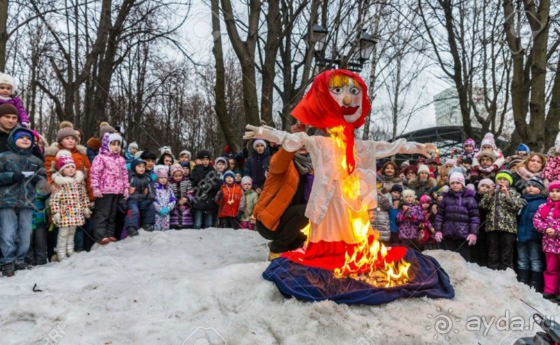
[[[476,244],[480,226],[475,191],[465,188],[465,176],[459,172],[451,174],[449,183],[450,190],[444,194],[436,215],[436,241],[442,242],[443,249],[456,251],[470,261],[469,246]]]

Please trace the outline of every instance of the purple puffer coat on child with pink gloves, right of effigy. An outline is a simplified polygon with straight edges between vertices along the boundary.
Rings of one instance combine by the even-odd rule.
[[[478,235],[479,226],[475,191],[465,189],[456,193],[449,190],[438,207],[436,231],[441,231],[443,238],[466,239],[469,234]]]

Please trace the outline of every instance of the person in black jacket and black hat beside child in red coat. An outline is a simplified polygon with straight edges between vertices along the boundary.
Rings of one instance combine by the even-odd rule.
[[[196,153],[196,159],[201,164],[196,165],[191,172],[194,187],[194,228],[210,228],[217,219],[218,205],[214,202],[214,196],[221,189],[222,181],[218,173],[210,165],[210,152],[201,150]]]

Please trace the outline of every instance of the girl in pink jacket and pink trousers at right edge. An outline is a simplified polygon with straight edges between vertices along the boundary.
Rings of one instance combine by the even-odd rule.
[[[560,180],[548,185],[548,199],[538,206],[533,224],[543,233],[546,271],[543,298],[560,302]]]

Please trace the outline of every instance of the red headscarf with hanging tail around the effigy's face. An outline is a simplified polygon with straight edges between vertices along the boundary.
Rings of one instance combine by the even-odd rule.
[[[348,123],[340,111],[340,106],[330,95],[329,82],[335,74],[348,76],[353,78],[362,88],[362,114],[359,119],[353,123]],[[344,126],[344,135],[346,136],[346,162],[348,163],[348,174],[352,174],[356,167],[354,157],[354,130],[362,127],[366,121],[371,105],[368,99],[368,88],[362,78],[346,69],[332,69],[324,71],[315,76],[313,84],[303,99],[298,103],[296,108],[292,110],[291,115],[299,121],[320,128],[325,131],[326,128]]]

